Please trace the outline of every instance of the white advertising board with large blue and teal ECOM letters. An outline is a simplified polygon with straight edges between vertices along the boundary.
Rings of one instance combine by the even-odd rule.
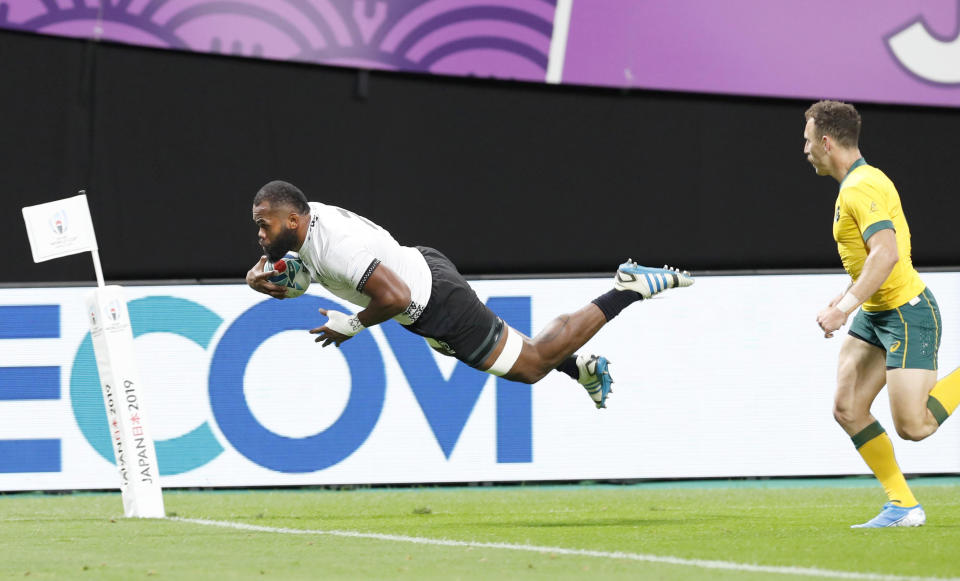
[[[960,364],[960,273],[924,275],[943,308],[941,375]],[[164,487],[866,473],[831,414],[841,339],[816,312],[841,275],[703,277],[629,307],[582,351],[607,356],[609,408],[554,372],[477,372],[389,322],[342,348],[307,329],[311,287],[278,301],[243,285],[125,289]],[[524,333],[610,279],[475,281]],[[87,288],[0,290],[0,490],[116,488]],[[122,315],[122,313],[118,314]],[[128,401],[118,385],[118,400]],[[886,399],[874,413],[895,435]],[[894,437],[907,473],[960,471],[960,427]]]

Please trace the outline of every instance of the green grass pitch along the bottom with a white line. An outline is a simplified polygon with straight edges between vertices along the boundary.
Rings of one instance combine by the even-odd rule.
[[[911,482],[928,524],[883,530],[849,528],[885,501],[868,478],[166,491],[162,520],[123,518],[114,493],[7,494],[0,578],[960,576],[960,481]]]

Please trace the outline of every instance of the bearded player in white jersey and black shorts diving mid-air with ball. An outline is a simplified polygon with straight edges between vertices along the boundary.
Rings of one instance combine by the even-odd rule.
[[[253,221],[264,256],[247,272],[251,288],[284,298],[285,289],[267,280],[276,273],[264,266],[293,251],[312,282],[362,309],[356,315],[321,309],[328,320],[310,332],[324,347],[339,346],[367,327],[394,319],[437,351],[512,381],[536,383],[554,369],[566,373],[586,388],[598,408],[606,407],[613,383],[609,361],[576,350],[630,304],[693,284],[687,272],[628,260],[617,270],[612,290],[529,338],[480,302],[437,250],[401,246],[366,218],[308,202],[290,183],[272,181],[257,192]]]

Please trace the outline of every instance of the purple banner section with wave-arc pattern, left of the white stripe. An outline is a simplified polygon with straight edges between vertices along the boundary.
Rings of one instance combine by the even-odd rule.
[[[0,28],[372,69],[543,81],[551,0],[16,0]]]

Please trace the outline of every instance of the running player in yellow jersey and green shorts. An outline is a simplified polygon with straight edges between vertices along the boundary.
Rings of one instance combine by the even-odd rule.
[[[853,526],[920,526],[926,514],[870,406],[886,384],[897,434],[922,440],[960,404],[960,370],[937,381],[940,311],[913,268],[893,182],[860,155],[860,114],[846,103],[820,101],[805,117],[803,153],[817,175],[840,182],[833,237],[852,279],[817,314],[817,324],[832,337],[860,307],[840,349],[833,415],[890,499],[879,515]]]

